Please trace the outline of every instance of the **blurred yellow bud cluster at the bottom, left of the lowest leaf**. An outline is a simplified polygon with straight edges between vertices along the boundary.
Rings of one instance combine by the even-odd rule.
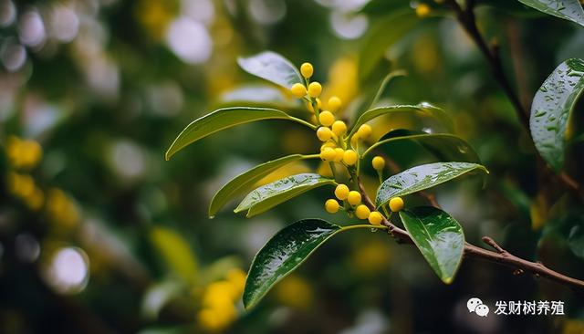
[[[203,308],[197,313],[199,325],[209,331],[229,326],[237,318],[235,303],[241,298],[244,287],[245,272],[239,268],[230,270],[225,279],[208,285],[203,292]]]

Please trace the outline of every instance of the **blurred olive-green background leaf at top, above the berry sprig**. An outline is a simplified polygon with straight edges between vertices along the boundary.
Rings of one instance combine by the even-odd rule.
[[[388,47],[399,41],[418,23],[410,8],[396,10],[371,27],[360,50],[359,76],[368,78],[378,65]]]

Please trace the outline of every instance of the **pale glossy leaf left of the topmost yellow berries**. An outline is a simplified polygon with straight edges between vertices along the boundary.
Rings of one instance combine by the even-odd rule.
[[[245,72],[265,78],[285,89],[290,89],[295,83],[304,82],[297,68],[287,58],[272,51],[251,57],[239,57],[237,63]]]

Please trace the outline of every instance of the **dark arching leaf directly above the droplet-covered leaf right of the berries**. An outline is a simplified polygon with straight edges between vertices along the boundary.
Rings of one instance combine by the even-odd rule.
[[[393,141],[414,141],[443,162],[481,162],[473,147],[454,134],[405,129],[391,130],[386,133],[367,151],[364,151],[362,156],[365,157],[371,151]]]

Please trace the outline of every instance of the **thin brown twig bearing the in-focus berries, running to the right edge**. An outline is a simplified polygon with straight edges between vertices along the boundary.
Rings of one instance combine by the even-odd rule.
[[[365,192],[363,183],[360,182],[359,178],[357,179],[357,183],[359,184],[359,190],[361,193],[363,203],[367,205],[371,211],[376,210],[375,204],[373,204],[369,195],[367,194],[367,192]],[[397,243],[413,244],[412,236],[407,231],[401,229],[395,224],[392,224],[387,218],[383,217],[383,221],[381,222],[381,224],[389,227],[388,232]],[[505,249],[503,249],[500,245],[497,245],[495,243],[495,240],[493,240],[491,237],[484,236],[483,242],[495,248],[496,252],[478,247],[476,245],[465,243],[464,257],[477,258],[479,260],[493,262],[498,265],[508,266],[515,269],[514,273],[520,273],[523,271],[531,273],[536,277],[546,277],[554,282],[557,282],[567,287],[571,287],[575,290],[576,289],[584,290],[584,281],[582,280],[562,275],[548,268],[547,266],[544,266],[540,262],[531,262],[520,257],[514,256],[507,252]]]

